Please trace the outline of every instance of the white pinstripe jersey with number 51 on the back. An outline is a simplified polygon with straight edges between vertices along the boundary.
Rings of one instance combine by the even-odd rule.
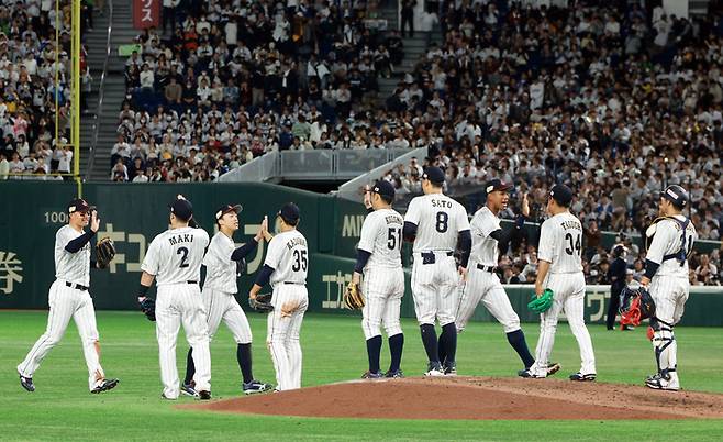
[[[403,225],[404,219],[393,209],[375,210],[367,214],[358,245],[359,250],[371,254],[366,267],[401,267]]]

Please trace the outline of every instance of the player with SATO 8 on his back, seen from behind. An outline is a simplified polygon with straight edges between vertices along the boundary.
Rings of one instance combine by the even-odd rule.
[[[424,195],[409,203],[403,226],[404,239],[414,243],[411,284],[414,311],[429,358],[425,376],[456,373],[457,287],[459,277],[466,278],[471,247],[467,212],[460,203],[442,192],[443,186],[444,172],[435,166],[427,167],[422,175]],[[459,267],[454,258],[457,245],[461,251]],[[438,341],[435,320],[442,327]],[[440,346],[446,355],[444,367],[440,362]]]

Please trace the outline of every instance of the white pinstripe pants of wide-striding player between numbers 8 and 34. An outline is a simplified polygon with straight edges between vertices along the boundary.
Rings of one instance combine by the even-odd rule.
[[[478,269],[476,265],[470,265],[456,314],[455,323],[458,333],[465,330],[469,318],[475,313],[475,309],[480,301],[502,324],[505,333],[520,330],[520,317],[512,308],[500,278],[493,273],[483,272]]]

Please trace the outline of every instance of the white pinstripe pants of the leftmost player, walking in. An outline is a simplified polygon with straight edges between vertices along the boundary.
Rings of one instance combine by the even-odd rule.
[[[78,328],[78,334],[80,334],[82,354],[88,366],[88,388],[92,390],[105,377],[105,374],[100,366],[100,355],[96,347],[98,327],[90,294],[67,287],[64,280],[56,279],[51,286],[48,303],[51,310],[47,316],[47,329],[35,342],[25,360],[18,365],[18,373],[25,377],[33,377],[43,358],[60,342],[70,318],[73,318]]]

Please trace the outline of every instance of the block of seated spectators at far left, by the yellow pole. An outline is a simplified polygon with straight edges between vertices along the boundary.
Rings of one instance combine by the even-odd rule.
[[[57,174],[71,170],[70,4],[60,0],[58,16],[55,2],[0,4],[0,180],[63,179]]]

